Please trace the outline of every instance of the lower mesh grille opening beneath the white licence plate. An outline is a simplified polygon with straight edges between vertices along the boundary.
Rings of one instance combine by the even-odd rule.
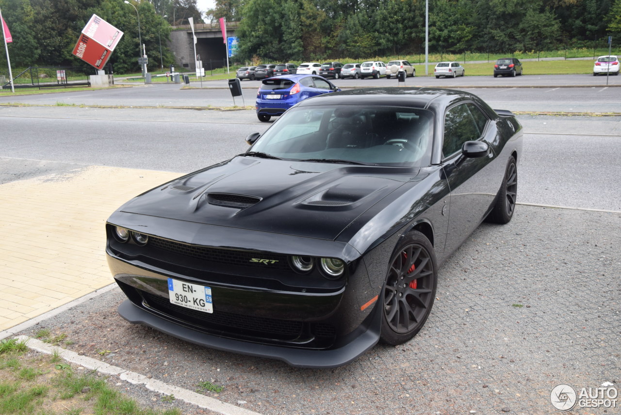
[[[293,340],[301,336],[304,323],[301,321],[261,318],[216,311],[203,313],[191,308],[170,303],[166,298],[144,291],[140,292],[147,305],[168,316],[181,319],[207,330],[217,330],[247,336],[269,337],[279,340]]]

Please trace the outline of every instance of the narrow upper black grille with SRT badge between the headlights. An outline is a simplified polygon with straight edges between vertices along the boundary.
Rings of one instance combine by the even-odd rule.
[[[237,251],[235,249],[211,248],[208,246],[184,244],[168,239],[151,236],[149,245],[153,248],[175,252],[217,264],[234,264],[245,267],[263,267],[266,269],[291,270],[286,255],[268,252]],[[254,261],[253,261],[254,260]],[[260,262],[264,260],[263,262]],[[265,261],[267,260],[267,261]]]

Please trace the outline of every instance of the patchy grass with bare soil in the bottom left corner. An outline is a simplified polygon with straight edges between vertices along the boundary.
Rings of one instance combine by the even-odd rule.
[[[49,331],[40,334],[50,336]],[[111,388],[105,377],[58,363],[58,352],[49,356],[27,350],[25,343],[16,339],[0,342],[2,415],[181,415],[179,409],[140,406]],[[174,396],[165,398],[175,400]]]

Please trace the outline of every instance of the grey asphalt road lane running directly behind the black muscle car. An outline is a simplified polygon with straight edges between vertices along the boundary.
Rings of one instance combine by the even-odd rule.
[[[621,177],[621,117],[519,119],[527,133],[521,202],[621,211],[621,192],[610,180]],[[242,153],[244,138],[269,125],[252,110],[0,107],[0,157],[13,159],[13,171],[8,159],[0,164],[0,178],[55,168],[16,167],[15,159],[190,172]]]

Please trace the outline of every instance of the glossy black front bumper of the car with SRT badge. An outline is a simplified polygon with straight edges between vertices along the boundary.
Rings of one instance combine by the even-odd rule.
[[[130,221],[145,230],[169,228],[163,218],[133,214],[120,223],[129,225]],[[175,225],[174,230],[181,232],[176,240],[183,241],[188,231],[179,223]],[[352,259],[355,253],[349,245],[269,233],[258,235],[261,244],[257,245],[252,243],[255,238],[250,231],[188,225],[197,228],[193,240],[183,243],[151,236],[148,246],[152,248],[147,250],[147,246],[120,244],[109,238],[107,261],[130,301],[119,313],[130,323],[147,324],[201,346],[279,359],[299,367],[344,365],[378,342],[381,320],[373,306],[365,305],[377,291],[369,285],[363,260]],[[172,230],[169,233],[174,236]],[[283,260],[275,261],[283,266],[250,266],[253,262],[243,259],[246,251],[230,248],[209,248],[200,257],[193,253],[224,239],[230,246],[245,241],[251,256]],[[348,275],[329,281],[314,274],[295,274],[286,266],[286,256],[263,256],[265,246],[276,249],[274,252],[292,249],[314,257],[329,253],[343,257],[351,261]],[[169,278],[210,287],[213,313],[171,303]]]

